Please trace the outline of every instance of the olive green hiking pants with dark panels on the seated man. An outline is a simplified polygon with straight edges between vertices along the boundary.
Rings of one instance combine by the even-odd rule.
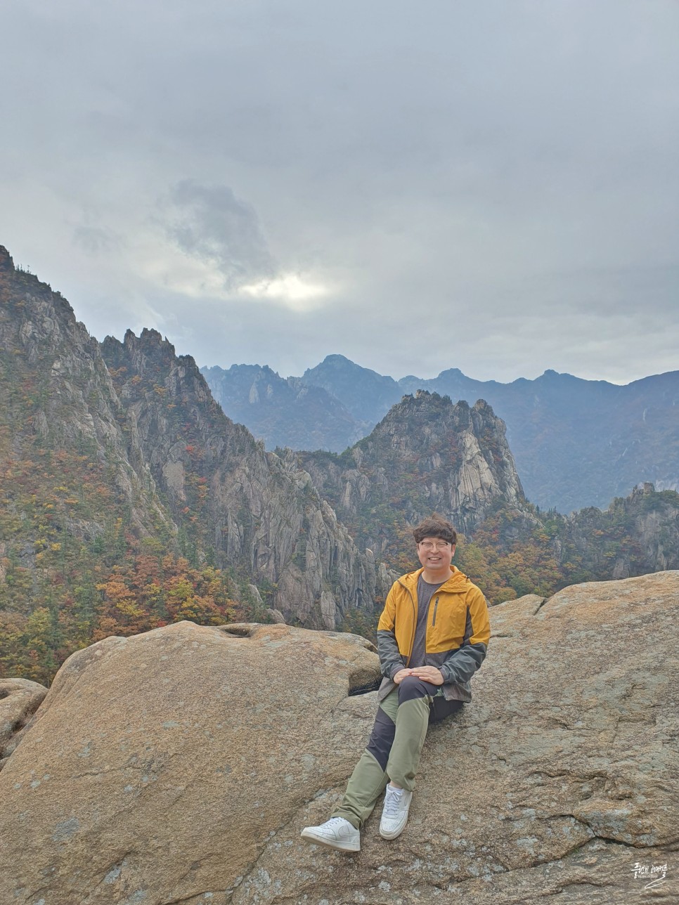
[[[344,817],[359,830],[387,782],[412,792],[430,720],[444,719],[460,707],[459,700],[445,700],[440,686],[415,677],[404,679],[380,702],[368,748],[332,816]]]

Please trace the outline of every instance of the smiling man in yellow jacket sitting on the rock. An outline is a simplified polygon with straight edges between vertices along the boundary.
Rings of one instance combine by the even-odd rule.
[[[427,726],[472,700],[469,681],[491,634],[482,592],[451,565],[457,535],[450,522],[435,514],[413,536],[422,568],[394,582],[379,617],[384,679],[368,748],[330,820],[301,831],[342,852],[359,852],[360,828],[385,786],[379,834],[403,832]]]

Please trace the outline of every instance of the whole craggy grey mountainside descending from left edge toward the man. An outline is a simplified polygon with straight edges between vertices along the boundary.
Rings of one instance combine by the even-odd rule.
[[[225,417],[192,358],[148,330],[100,347],[5,249],[0,386],[0,675],[90,641],[103,583],[145,540],[230,567],[311,626],[369,611],[372,558],[308,474]],[[123,621],[133,589],[126,605]]]

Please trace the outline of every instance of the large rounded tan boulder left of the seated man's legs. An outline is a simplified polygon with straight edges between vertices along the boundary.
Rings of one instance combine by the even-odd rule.
[[[229,900],[351,769],[369,718],[349,692],[378,680],[373,650],[185,622],[73,654],[0,774],[0,901]]]

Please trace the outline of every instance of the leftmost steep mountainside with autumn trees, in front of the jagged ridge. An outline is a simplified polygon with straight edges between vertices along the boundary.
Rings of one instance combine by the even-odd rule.
[[[0,248],[0,676],[48,678],[90,643],[98,585],[175,526],[97,341]]]

